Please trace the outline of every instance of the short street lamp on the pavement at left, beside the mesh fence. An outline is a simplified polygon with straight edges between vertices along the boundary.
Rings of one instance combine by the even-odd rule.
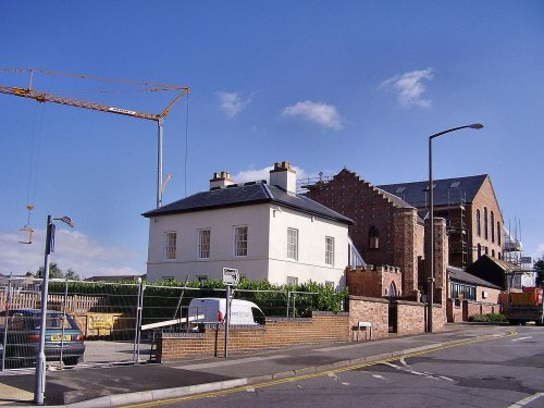
[[[39,344],[38,355],[36,357],[36,384],[34,387],[34,403],[42,405],[44,394],[46,392],[46,324],[47,324],[47,292],[49,284],[49,258],[51,252],[54,252],[54,223],[53,221],[62,221],[63,223],[74,226],[74,222],[70,217],[53,219],[52,215],[47,217],[47,234],[46,234],[46,259],[44,262],[44,282],[41,284],[41,321],[39,325]]]

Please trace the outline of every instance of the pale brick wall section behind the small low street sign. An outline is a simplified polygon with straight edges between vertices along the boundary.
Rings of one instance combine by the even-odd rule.
[[[370,322],[372,324],[372,338],[384,338],[390,334],[388,307],[386,299],[376,299],[363,296],[349,296],[349,326],[351,339],[357,339],[357,323]],[[368,329],[364,329],[367,331]],[[369,333],[359,333],[359,341],[370,338]]]

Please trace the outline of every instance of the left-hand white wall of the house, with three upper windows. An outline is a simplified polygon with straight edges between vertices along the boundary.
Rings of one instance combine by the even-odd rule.
[[[223,268],[235,268],[249,280],[268,272],[269,205],[163,215],[149,220],[148,280],[222,279]],[[234,256],[234,226],[248,227],[248,256]],[[209,228],[210,258],[198,259],[198,230]],[[175,260],[164,260],[164,233],[177,233]]]

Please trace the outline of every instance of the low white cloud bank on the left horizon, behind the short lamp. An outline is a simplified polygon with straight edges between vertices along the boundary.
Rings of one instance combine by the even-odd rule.
[[[24,274],[36,272],[44,265],[45,231],[36,230],[33,244],[23,245],[18,242],[23,236],[16,233],[0,232],[0,272],[3,274]],[[25,239],[27,237],[24,237]],[[51,254],[51,262],[60,269],[72,269],[81,277],[91,275],[141,274],[128,264],[139,257],[139,254],[127,251],[120,247],[106,247],[85,234],[76,231],[57,228],[55,251]]]

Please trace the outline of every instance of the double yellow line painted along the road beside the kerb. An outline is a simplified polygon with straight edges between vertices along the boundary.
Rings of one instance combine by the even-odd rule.
[[[512,336],[516,334],[518,334],[516,331],[508,331],[505,333],[505,336]],[[175,404],[175,403],[181,403],[181,401],[186,401],[186,400],[211,398],[211,397],[218,397],[218,396],[222,396],[222,395],[240,393],[240,392],[245,392],[245,391],[249,391],[249,390],[264,388],[264,387],[270,387],[270,386],[274,386],[274,385],[292,383],[292,382],[296,382],[296,381],[311,380],[311,379],[316,379],[318,376],[325,376],[329,374],[336,374],[336,373],[342,373],[342,372],[346,372],[346,371],[358,370],[358,369],[362,369],[366,367],[381,364],[384,362],[397,361],[397,360],[400,360],[401,358],[422,356],[422,355],[426,355],[426,354],[435,353],[435,351],[441,351],[441,350],[445,350],[445,349],[453,348],[453,347],[468,346],[468,345],[475,344],[475,343],[487,342],[487,341],[491,341],[494,338],[499,338],[499,337],[496,335],[490,335],[490,336],[479,337],[479,338],[474,338],[474,339],[470,339],[470,341],[452,342],[452,343],[445,344],[445,345],[440,346],[440,347],[429,348],[429,349],[424,349],[424,350],[420,350],[420,351],[408,353],[408,354],[405,354],[401,356],[390,357],[390,358],[384,358],[384,359],[374,360],[374,361],[366,361],[366,362],[361,362],[358,364],[342,367],[342,368],[337,368],[337,369],[333,369],[333,370],[321,371],[321,372],[317,372],[317,373],[312,373],[312,374],[290,376],[288,379],[282,379],[282,380],[271,380],[271,381],[267,381],[264,383],[243,385],[243,386],[237,386],[237,387],[230,388],[230,390],[219,390],[219,391],[212,391],[209,393],[187,395],[184,397],[175,397],[175,398],[162,399],[162,400],[158,400],[158,401],[143,403],[143,404],[136,404],[136,405],[132,404],[132,405],[126,406],[126,407],[132,407],[132,408],[134,408],[134,407],[136,407],[136,408],[158,407],[161,405]]]

